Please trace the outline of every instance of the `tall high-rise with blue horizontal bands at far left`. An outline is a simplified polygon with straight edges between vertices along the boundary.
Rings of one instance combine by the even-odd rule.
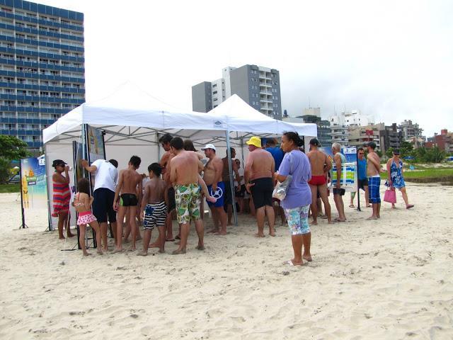
[[[85,101],[84,14],[0,0],[0,133],[30,149]]]

